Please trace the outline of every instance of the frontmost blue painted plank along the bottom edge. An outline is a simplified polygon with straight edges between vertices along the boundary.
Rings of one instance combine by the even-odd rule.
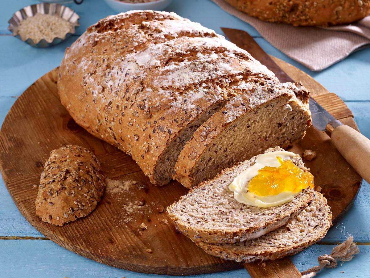
[[[334,245],[314,245],[292,257],[293,263],[304,271],[317,264],[317,257],[330,254]],[[326,277],[369,277],[370,246],[359,246],[360,254],[353,261],[344,262],[335,269],[324,269],[321,278]],[[21,252],[20,252],[21,250]],[[11,266],[11,267],[10,267]],[[0,241],[0,269],[3,278],[27,277],[168,277],[164,275],[145,275],[118,268],[108,267],[90,259],[67,251],[48,240],[2,240]],[[359,271],[359,269],[361,271]],[[6,270],[6,271],[4,271]],[[344,271],[344,273],[340,273]],[[245,269],[217,274],[194,275],[190,278],[239,278],[250,277]]]

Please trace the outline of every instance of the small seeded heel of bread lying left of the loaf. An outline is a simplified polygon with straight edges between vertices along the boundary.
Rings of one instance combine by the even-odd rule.
[[[89,215],[105,189],[99,160],[86,148],[67,145],[52,150],[41,173],[36,215],[53,225]]]

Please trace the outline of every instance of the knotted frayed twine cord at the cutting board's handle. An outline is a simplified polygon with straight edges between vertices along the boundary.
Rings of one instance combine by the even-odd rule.
[[[314,277],[317,272],[323,268],[335,268],[338,265],[338,260],[342,262],[350,261],[353,259],[353,255],[360,252],[360,249],[353,242],[353,236],[349,236],[346,241],[335,246],[330,255],[322,255],[317,258],[319,265],[316,265],[306,271],[301,272],[303,278]]]

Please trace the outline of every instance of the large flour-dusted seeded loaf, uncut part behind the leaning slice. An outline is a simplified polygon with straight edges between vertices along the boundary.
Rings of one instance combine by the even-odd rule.
[[[192,133],[226,100],[278,83],[248,52],[177,16],[130,11],[88,27],[66,50],[62,104],[92,135],[166,184]]]

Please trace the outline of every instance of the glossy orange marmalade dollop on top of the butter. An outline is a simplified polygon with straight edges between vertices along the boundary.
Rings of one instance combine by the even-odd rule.
[[[279,167],[265,166],[249,182],[249,191],[259,195],[277,195],[281,192],[299,192],[307,186],[314,187],[313,175],[302,171],[292,160],[276,157],[281,164]]]

